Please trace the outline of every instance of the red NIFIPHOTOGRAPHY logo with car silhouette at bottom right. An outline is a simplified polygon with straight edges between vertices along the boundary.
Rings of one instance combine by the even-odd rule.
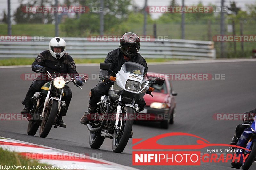
[[[197,138],[196,145],[161,145],[157,141],[165,137],[191,136]],[[229,144],[211,144],[207,140],[189,133],[165,133],[149,139],[133,139],[132,165],[200,165],[201,161],[207,162],[244,162],[249,154],[236,155],[234,152],[242,152],[249,149]],[[212,149],[207,153],[201,154],[199,150],[205,147],[227,146],[236,149]],[[157,150],[178,150],[178,151],[157,151]],[[152,151],[134,151],[134,150],[152,150]],[[182,150],[182,151],[179,151]],[[218,152],[218,154],[216,154]],[[226,153],[228,152],[228,153]]]

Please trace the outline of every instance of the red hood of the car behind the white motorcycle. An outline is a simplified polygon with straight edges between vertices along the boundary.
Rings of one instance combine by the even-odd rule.
[[[159,92],[152,92],[152,96],[146,94],[143,98],[146,102],[146,106],[150,106],[152,102],[161,102],[165,103],[167,101],[168,94],[159,93]]]

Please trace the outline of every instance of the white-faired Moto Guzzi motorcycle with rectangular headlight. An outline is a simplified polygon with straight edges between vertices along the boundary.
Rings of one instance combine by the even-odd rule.
[[[100,69],[110,70],[110,64],[100,63]],[[123,152],[132,131],[134,117],[139,114],[139,106],[135,101],[142,99],[146,93],[151,95],[154,91],[154,88],[149,87],[148,78],[143,73],[144,66],[141,64],[125,62],[121,70],[115,73],[116,77],[110,77],[112,82],[108,83],[114,81],[114,85],[110,87],[108,96],[101,97],[95,115],[87,124],[91,148],[100,148],[104,139],[110,138],[113,151]],[[163,83],[164,79],[161,78],[152,82],[159,85]]]

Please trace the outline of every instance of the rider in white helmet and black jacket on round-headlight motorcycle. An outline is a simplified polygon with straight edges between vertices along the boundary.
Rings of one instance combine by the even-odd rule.
[[[45,67],[53,78],[58,76],[59,74],[66,78],[67,74],[69,74],[70,77],[76,80],[77,85],[82,85],[83,82],[79,77],[78,72],[76,71],[76,65],[73,58],[65,52],[66,42],[64,41],[64,39],[60,37],[54,37],[49,42],[49,50],[45,50],[40,53],[36,57],[35,61],[32,63],[32,70],[42,71]],[[22,113],[25,117],[30,112],[32,107],[30,98],[35,92],[40,91],[41,87],[47,81],[49,80],[46,80],[45,78],[43,78],[43,76],[39,76],[30,85],[26,97],[22,102],[25,107],[20,111],[20,113]],[[66,127],[66,124],[62,120],[62,116],[66,116],[71,98],[72,91],[68,86],[65,86],[64,97],[62,98],[62,100],[66,102],[66,109],[61,110],[60,116],[56,122],[60,125],[60,127]]]

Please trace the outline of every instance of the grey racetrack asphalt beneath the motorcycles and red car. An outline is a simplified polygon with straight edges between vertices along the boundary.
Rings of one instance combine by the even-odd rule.
[[[172,80],[177,102],[174,124],[169,129],[161,129],[156,122],[139,122],[133,125],[133,138],[151,138],[169,132],[184,132],[197,135],[210,143],[228,144],[234,134],[235,127],[241,120],[214,120],[215,113],[244,113],[256,107],[256,62],[222,62],[175,65],[149,65],[148,71],[158,73],[208,73],[225,74],[225,80]],[[99,66],[78,66],[81,74],[98,74]],[[31,68],[0,69],[0,113],[20,113],[23,108],[21,101],[31,84],[31,80],[22,80],[21,74],[33,73]],[[123,153],[112,151],[112,141],[105,139],[100,149],[89,146],[89,131],[80,124],[80,118],[88,107],[88,93],[99,80],[88,80],[83,89],[69,83],[73,98],[67,116],[63,118],[67,128],[51,129],[47,138],[27,135],[26,120],[0,120],[0,136],[21,141],[45,145],[76,153],[86,153],[89,156],[100,155],[102,159],[132,166],[132,139]],[[196,140],[191,137],[177,136],[163,138],[163,145],[192,145]],[[212,147],[201,149],[228,149],[227,147]],[[133,166],[138,169],[230,169],[228,163],[203,163],[200,166]],[[253,163],[251,169],[256,168]]]

